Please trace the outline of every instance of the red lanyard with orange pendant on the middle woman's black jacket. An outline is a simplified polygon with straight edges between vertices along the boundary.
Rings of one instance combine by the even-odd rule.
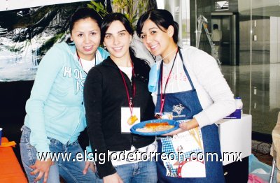
[[[131,61],[131,59],[130,59]],[[136,122],[138,120],[136,115],[133,115],[133,98],[136,94],[136,86],[134,83],[134,65],[131,61],[132,64],[132,96],[130,96],[129,92],[128,92],[128,87],[127,87],[127,83],[125,82],[125,76],[123,75],[123,72],[120,70],[120,75],[123,78],[123,85],[125,85],[125,92],[127,93],[127,101],[128,101],[128,106],[130,107],[130,117],[127,119],[127,124],[132,125],[134,124],[134,122]]]

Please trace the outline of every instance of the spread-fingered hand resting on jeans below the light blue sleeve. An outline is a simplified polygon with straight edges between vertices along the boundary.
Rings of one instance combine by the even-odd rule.
[[[39,161],[36,160],[35,164],[33,166],[30,166],[34,171],[31,172],[31,175],[36,175],[36,173],[39,173],[34,182],[37,182],[41,180],[41,178],[44,175],[44,183],[47,182],[48,180],[48,173],[50,171],[50,166],[52,166],[54,163],[50,160],[47,159],[46,161]]]

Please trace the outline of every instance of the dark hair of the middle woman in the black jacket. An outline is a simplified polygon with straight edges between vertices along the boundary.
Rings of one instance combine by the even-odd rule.
[[[114,21],[122,22],[122,24],[125,27],[125,29],[127,30],[127,32],[131,36],[133,36],[134,31],[132,29],[130,21],[127,20],[127,17],[125,17],[125,15],[123,15],[122,13],[110,13],[104,17],[104,20],[101,25],[101,41],[100,41],[101,43],[103,43],[103,41],[104,41],[106,31],[110,27],[111,23]],[[130,46],[130,57],[135,57],[135,52],[131,46]]]

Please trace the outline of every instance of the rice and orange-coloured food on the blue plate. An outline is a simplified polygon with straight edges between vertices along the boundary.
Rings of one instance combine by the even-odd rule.
[[[174,125],[168,124],[168,122],[160,122],[160,123],[147,123],[143,128],[136,129],[139,132],[155,132],[155,131],[167,131],[169,129],[173,129]]]

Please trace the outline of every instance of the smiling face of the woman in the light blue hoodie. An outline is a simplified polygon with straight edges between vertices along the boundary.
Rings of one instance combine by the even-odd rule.
[[[97,22],[90,17],[75,22],[71,41],[75,43],[80,58],[92,60],[100,44],[100,28]]]

